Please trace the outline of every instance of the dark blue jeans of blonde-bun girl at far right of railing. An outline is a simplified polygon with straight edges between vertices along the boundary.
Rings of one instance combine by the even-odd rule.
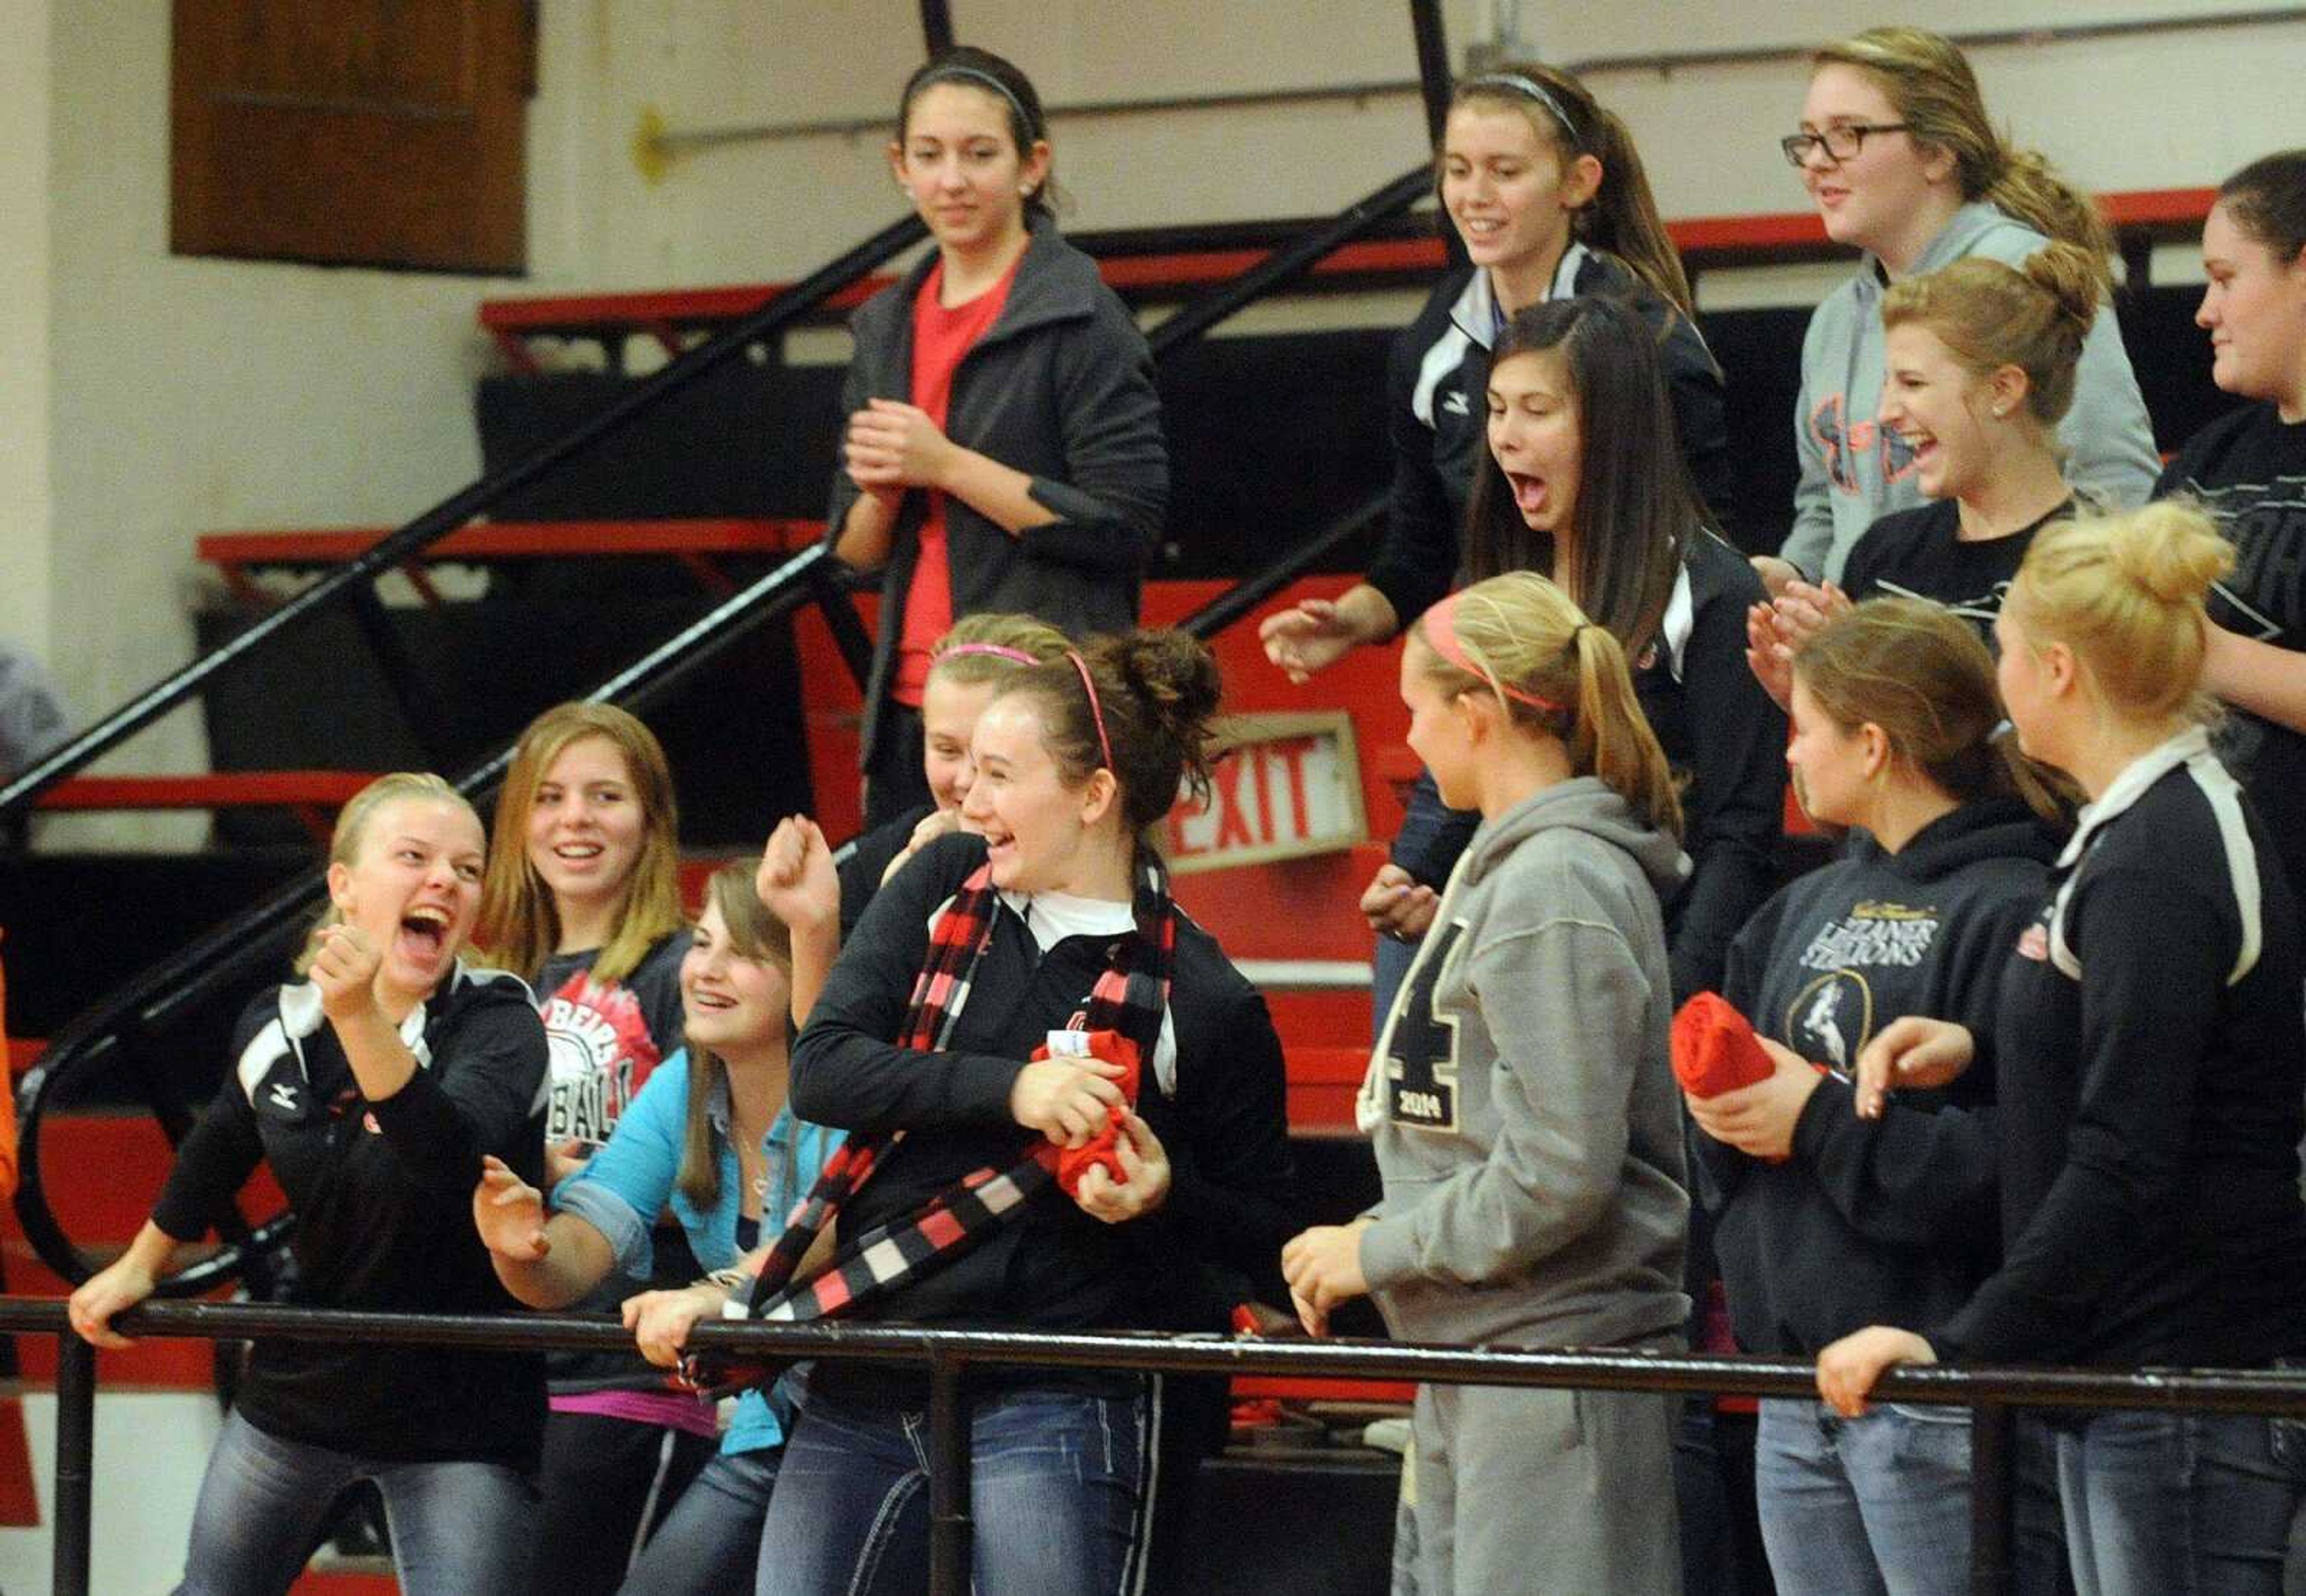
[[[2278,1596],[2299,1460],[2244,1414],[2050,1423],[2082,1596]]]

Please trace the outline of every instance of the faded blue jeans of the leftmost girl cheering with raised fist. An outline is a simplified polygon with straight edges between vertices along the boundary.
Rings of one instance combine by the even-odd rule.
[[[376,1481],[406,1596],[526,1591],[537,1490],[500,1462],[383,1462],[284,1441],[240,1414],[201,1476],[191,1550],[178,1596],[286,1591],[304,1571],[321,1520],[355,1481]]]

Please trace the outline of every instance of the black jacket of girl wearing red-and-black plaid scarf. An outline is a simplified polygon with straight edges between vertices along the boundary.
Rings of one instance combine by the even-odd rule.
[[[1003,899],[952,1052],[899,1047],[929,920],[982,863],[982,837],[952,835],[890,876],[793,1047],[796,1114],[844,1130],[906,1130],[842,1211],[842,1239],[1033,1149],[1038,1132],[1010,1116],[1010,1084],[1049,1031],[1072,1026],[1107,966],[1102,936],[1068,936],[1042,953]],[[1137,1102],[1169,1153],[1169,1199],[1130,1225],[1105,1225],[1049,1188],[957,1262],[909,1282],[883,1317],[1222,1328],[1238,1294],[1218,1289],[1206,1266],[1278,1289],[1280,1248],[1296,1232],[1280,1038],[1257,989],[1183,913],[1169,1022],[1176,1091],[1165,1093],[1146,1061]]]

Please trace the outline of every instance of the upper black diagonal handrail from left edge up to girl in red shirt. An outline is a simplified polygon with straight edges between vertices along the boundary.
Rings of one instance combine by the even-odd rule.
[[[401,565],[440,537],[447,537],[475,514],[482,514],[570,457],[581,454],[602,438],[625,429],[632,420],[655,408],[664,397],[726,364],[747,346],[775,339],[786,328],[805,321],[835,293],[856,284],[876,265],[890,261],[922,238],[927,238],[927,226],[920,217],[892,221],[856,249],[842,254],[837,261],[816,268],[775,300],[731,325],[726,332],[717,332],[696,348],[683,351],[660,371],[653,371],[648,378],[620,392],[613,404],[604,406],[565,436],[547,443],[526,459],[482,475],[477,482],[452,494],[450,498],[443,498],[415,521],[408,521],[353,560],[321,577],[314,586],[304,588],[272,613],[263,616],[240,637],[201,655],[152,687],[145,687],[88,731],[32,761],[30,770],[7,784],[0,784],[0,823],[7,823],[9,816],[30,810],[32,800],[37,800],[44,791],[85,768],[97,756],[108,754],[113,747],[150,727],[178,703],[184,703],[191,694],[201,692],[210,678],[244,662],[281,632],[309,620],[314,613],[344,597],[355,584],[371,581],[380,572]]]

